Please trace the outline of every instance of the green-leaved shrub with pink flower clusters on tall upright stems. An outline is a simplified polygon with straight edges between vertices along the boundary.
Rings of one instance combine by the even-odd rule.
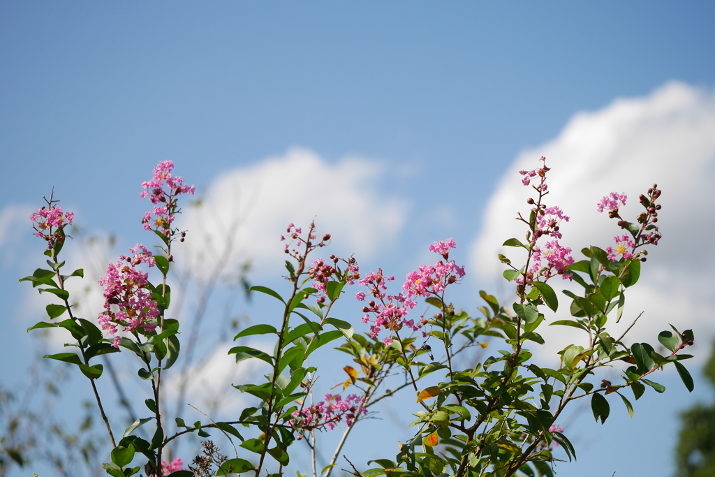
[[[66,280],[83,277],[84,272],[61,273],[65,262],[58,257],[67,237],[64,229],[74,218],[72,212],[63,212],[50,196],[46,206],[31,215],[35,235],[47,242],[44,254],[50,259],[50,270],[37,269],[21,281],[55,295],[60,303],[48,305],[47,320],[30,330],[64,328],[74,340],[68,345],[77,352],[46,358],[77,365],[89,378],[112,446],[110,461],[104,463],[111,476],[251,473],[259,477],[264,472],[277,476],[290,463],[290,451],[307,445],[313,476],[328,477],[350,431],[363,424],[370,407],[403,388],[411,388],[414,393],[418,409],[412,423],[414,430],[405,431],[405,443],[395,446],[394,460],[369,461],[367,465],[373,467],[363,471],[353,466],[355,475],[551,476],[554,446],[561,446],[569,459],[576,455],[557,424],[573,400],[589,398],[594,417],[603,423],[610,415],[606,396],[617,394],[632,415],[633,405],[624,392],[630,388],[636,400],[646,385],[662,393],[664,386],[647,377],[666,365],[674,365],[686,387],[693,389],[693,380],[681,363],[690,357],[681,352],[693,344],[691,330],[681,333],[673,327],[673,331],[658,335],[659,343],[670,352],[667,355],[656,352],[649,343],[628,347],[623,343],[625,334],[616,338],[608,331],[609,320],[615,315],[617,322],[623,316],[626,291],[641,275],[646,247],[658,245],[661,238],[655,225],[661,191],[654,185],[647,195],[639,197],[644,212],[635,222],[620,215],[619,208],[626,205],[625,194],[611,192],[603,197],[596,207],[618,220],[621,231],[614,237],[616,245],[605,250],[584,248],[584,257],[577,260],[570,248],[559,243],[561,224],[569,217],[557,205],[546,203],[550,169],[542,157],[539,167],[521,171],[523,185],[533,190],[533,197],[526,200],[531,207],[528,214],[517,216],[526,228],[526,242],[516,238],[504,242],[506,247],[524,250],[526,260],[515,263],[499,255],[506,266],[504,278],[514,284],[516,299],[510,306],[501,305],[482,291],[485,306],[478,308],[480,316],[472,316],[448,301],[450,287],[465,276],[465,268],[450,260],[457,247],[451,238],[430,245],[429,250],[440,258],[408,272],[399,291],[390,294],[394,276],[382,269],[363,276],[352,256],[330,254],[328,260],[314,257],[318,249],[330,245],[330,234],[317,233],[314,224],[305,233],[290,224],[286,235],[280,237],[286,242],[284,250],[289,257],[285,262],[287,292],[281,294],[262,286],[250,288],[251,292],[278,300],[280,320],[277,326],[252,325],[234,338],[267,335],[275,340],[273,351],[236,345],[228,352],[237,363],[258,359],[269,365],[264,381],[234,385],[237,391],[252,396],[253,402],[232,421],[216,422],[207,416],[207,422],[189,425],[177,416],[174,421],[179,431],[170,434],[163,414],[162,373],[168,372],[179,356],[180,323],[169,318],[171,288],[167,277],[174,261],[172,244],[176,240],[183,242],[186,235],[173,225],[180,212],[179,196],[194,193],[193,186],[172,176],[173,167],[170,161],[159,162],[153,179],[142,184],[141,197],[149,197],[154,205],[144,215],[143,227],[159,238],[161,253],[153,255],[144,245],[137,245],[129,249],[130,255],[120,255],[118,262],[109,264],[99,280],[105,303],[96,323],[74,316],[65,287]],[[149,280],[146,270],[151,267],[161,273],[162,281],[157,285]],[[527,346],[544,344],[538,329],[546,323],[549,310],[558,310],[559,298],[549,282],[559,275],[561,280],[575,282],[583,290],[565,290],[571,318],[551,320],[548,325],[576,328],[582,333],[583,345],[566,346],[558,353],[558,367],[546,368],[533,363]],[[364,335],[355,333],[350,320],[332,316],[337,300],[352,296],[345,287],[355,282],[361,287],[355,298],[364,304],[355,304],[355,315],[359,315],[362,306],[362,321],[370,325]],[[410,315],[420,301],[434,307],[433,314]],[[317,349],[336,342],[335,349],[357,364],[357,368],[342,368],[348,376],[342,388],[350,388],[351,392],[345,400],[341,395],[327,393],[324,400],[312,404],[313,388],[322,383],[318,383],[316,368],[307,360]],[[501,349],[471,368],[456,365],[456,355],[475,347],[483,350],[488,345]],[[151,387],[152,398],[144,401],[148,410],[144,415],[148,417],[137,419],[117,441],[95,384],[102,376],[103,366],[92,360],[119,352],[137,356],[137,375]],[[616,366],[623,368],[621,381],[598,380],[600,368]],[[385,383],[394,375],[403,375],[403,384],[385,390]],[[422,383],[428,375],[438,384],[425,387]],[[150,428],[150,440],[139,436],[137,429],[141,426]],[[246,436],[240,427],[247,429],[241,431]],[[342,438],[330,463],[318,472],[315,453],[320,432],[336,429],[342,431]],[[228,458],[212,441],[203,441],[202,453],[187,469],[181,458],[175,457],[170,463],[162,458],[175,439],[189,433],[207,438],[208,431],[220,431],[226,436],[235,457]],[[240,441],[240,452],[234,439]]]

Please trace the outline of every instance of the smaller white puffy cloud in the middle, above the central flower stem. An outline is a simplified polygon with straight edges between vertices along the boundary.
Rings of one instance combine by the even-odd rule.
[[[187,267],[205,276],[217,263],[249,257],[259,265],[255,272],[275,271],[284,260],[279,239],[287,225],[305,229],[314,217],[317,231],[330,233],[340,250],[373,255],[395,240],[408,210],[405,200],[380,189],[383,172],[362,157],[329,164],[293,148],[221,174],[199,205],[184,207],[179,227],[189,230],[182,244]]]

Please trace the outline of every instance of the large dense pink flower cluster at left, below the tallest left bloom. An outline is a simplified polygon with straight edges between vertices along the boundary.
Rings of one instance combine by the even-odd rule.
[[[99,315],[99,325],[108,335],[114,336],[114,348],[119,348],[121,340],[117,336],[117,325],[134,333],[151,333],[157,328],[155,318],[159,310],[147,287],[149,274],[137,270],[137,265],[147,263],[153,267],[156,262],[144,245],[137,244],[129,251],[134,255],[119,255],[119,262],[110,263],[99,280],[99,285],[104,287],[104,311]]]

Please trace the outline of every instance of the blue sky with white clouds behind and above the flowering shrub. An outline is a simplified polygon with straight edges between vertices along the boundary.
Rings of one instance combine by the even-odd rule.
[[[275,270],[265,237],[289,217],[317,215],[336,247],[398,276],[430,260],[429,243],[454,237],[475,270],[454,298],[471,310],[480,287],[506,293],[487,262],[516,233],[518,169],[548,157],[574,242],[613,235],[593,210],[601,195],[637,197],[659,182],[665,238],[634,305],[654,315],[641,332],[682,320],[709,343],[713,292],[703,283],[715,257],[691,244],[713,228],[703,201],[715,174],[713,18],[709,2],[6,1],[0,297],[19,338],[1,356],[39,353],[24,334],[35,297],[16,283],[38,262],[26,255],[39,255],[26,212],[55,187],[84,230],[117,235],[103,252],[115,260],[150,240],[138,226],[139,184],[165,159],[215,197],[217,217],[249,217],[236,258],[254,258],[257,281]],[[184,219],[196,217],[208,215]],[[193,253],[218,240],[195,233]],[[676,410],[709,394],[664,380],[666,394],[639,401],[631,421],[614,412],[596,427],[586,410],[573,428],[579,461],[557,471],[670,475]],[[648,462],[623,452],[633,445],[623,436],[638,434],[658,436],[642,444],[641,455],[658,451]],[[603,453],[613,466],[594,467]]]

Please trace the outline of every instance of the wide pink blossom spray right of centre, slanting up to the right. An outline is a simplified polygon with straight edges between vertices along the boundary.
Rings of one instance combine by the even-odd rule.
[[[447,239],[430,245],[430,251],[442,255],[447,260],[449,251],[456,245],[454,240]],[[375,300],[370,300],[368,306],[363,307],[363,313],[365,313],[363,323],[370,323],[370,315],[375,316],[372,325],[370,325],[370,336],[376,338],[382,330],[399,331],[403,326],[415,331],[419,330],[425,320],[415,323],[415,320],[406,318],[409,310],[417,306],[417,302],[413,298],[416,296],[440,296],[447,285],[460,280],[464,275],[464,267],[456,265],[454,260],[448,262],[438,260],[434,265],[422,265],[418,270],[408,273],[400,294],[387,295],[387,282],[395,280],[395,277],[383,276],[382,269],[378,269],[378,272],[368,273],[359,283],[368,287],[370,295],[375,298]],[[365,292],[358,292],[355,297],[359,301],[365,301],[368,295]],[[384,342],[389,346],[393,343],[393,339],[384,338]]]

